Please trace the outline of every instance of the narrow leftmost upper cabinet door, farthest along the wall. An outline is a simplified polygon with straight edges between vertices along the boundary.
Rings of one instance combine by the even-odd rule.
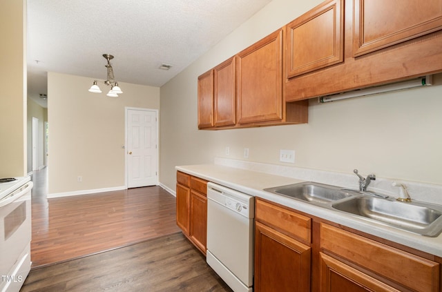
[[[213,70],[198,77],[198,128],[213,127]]]

